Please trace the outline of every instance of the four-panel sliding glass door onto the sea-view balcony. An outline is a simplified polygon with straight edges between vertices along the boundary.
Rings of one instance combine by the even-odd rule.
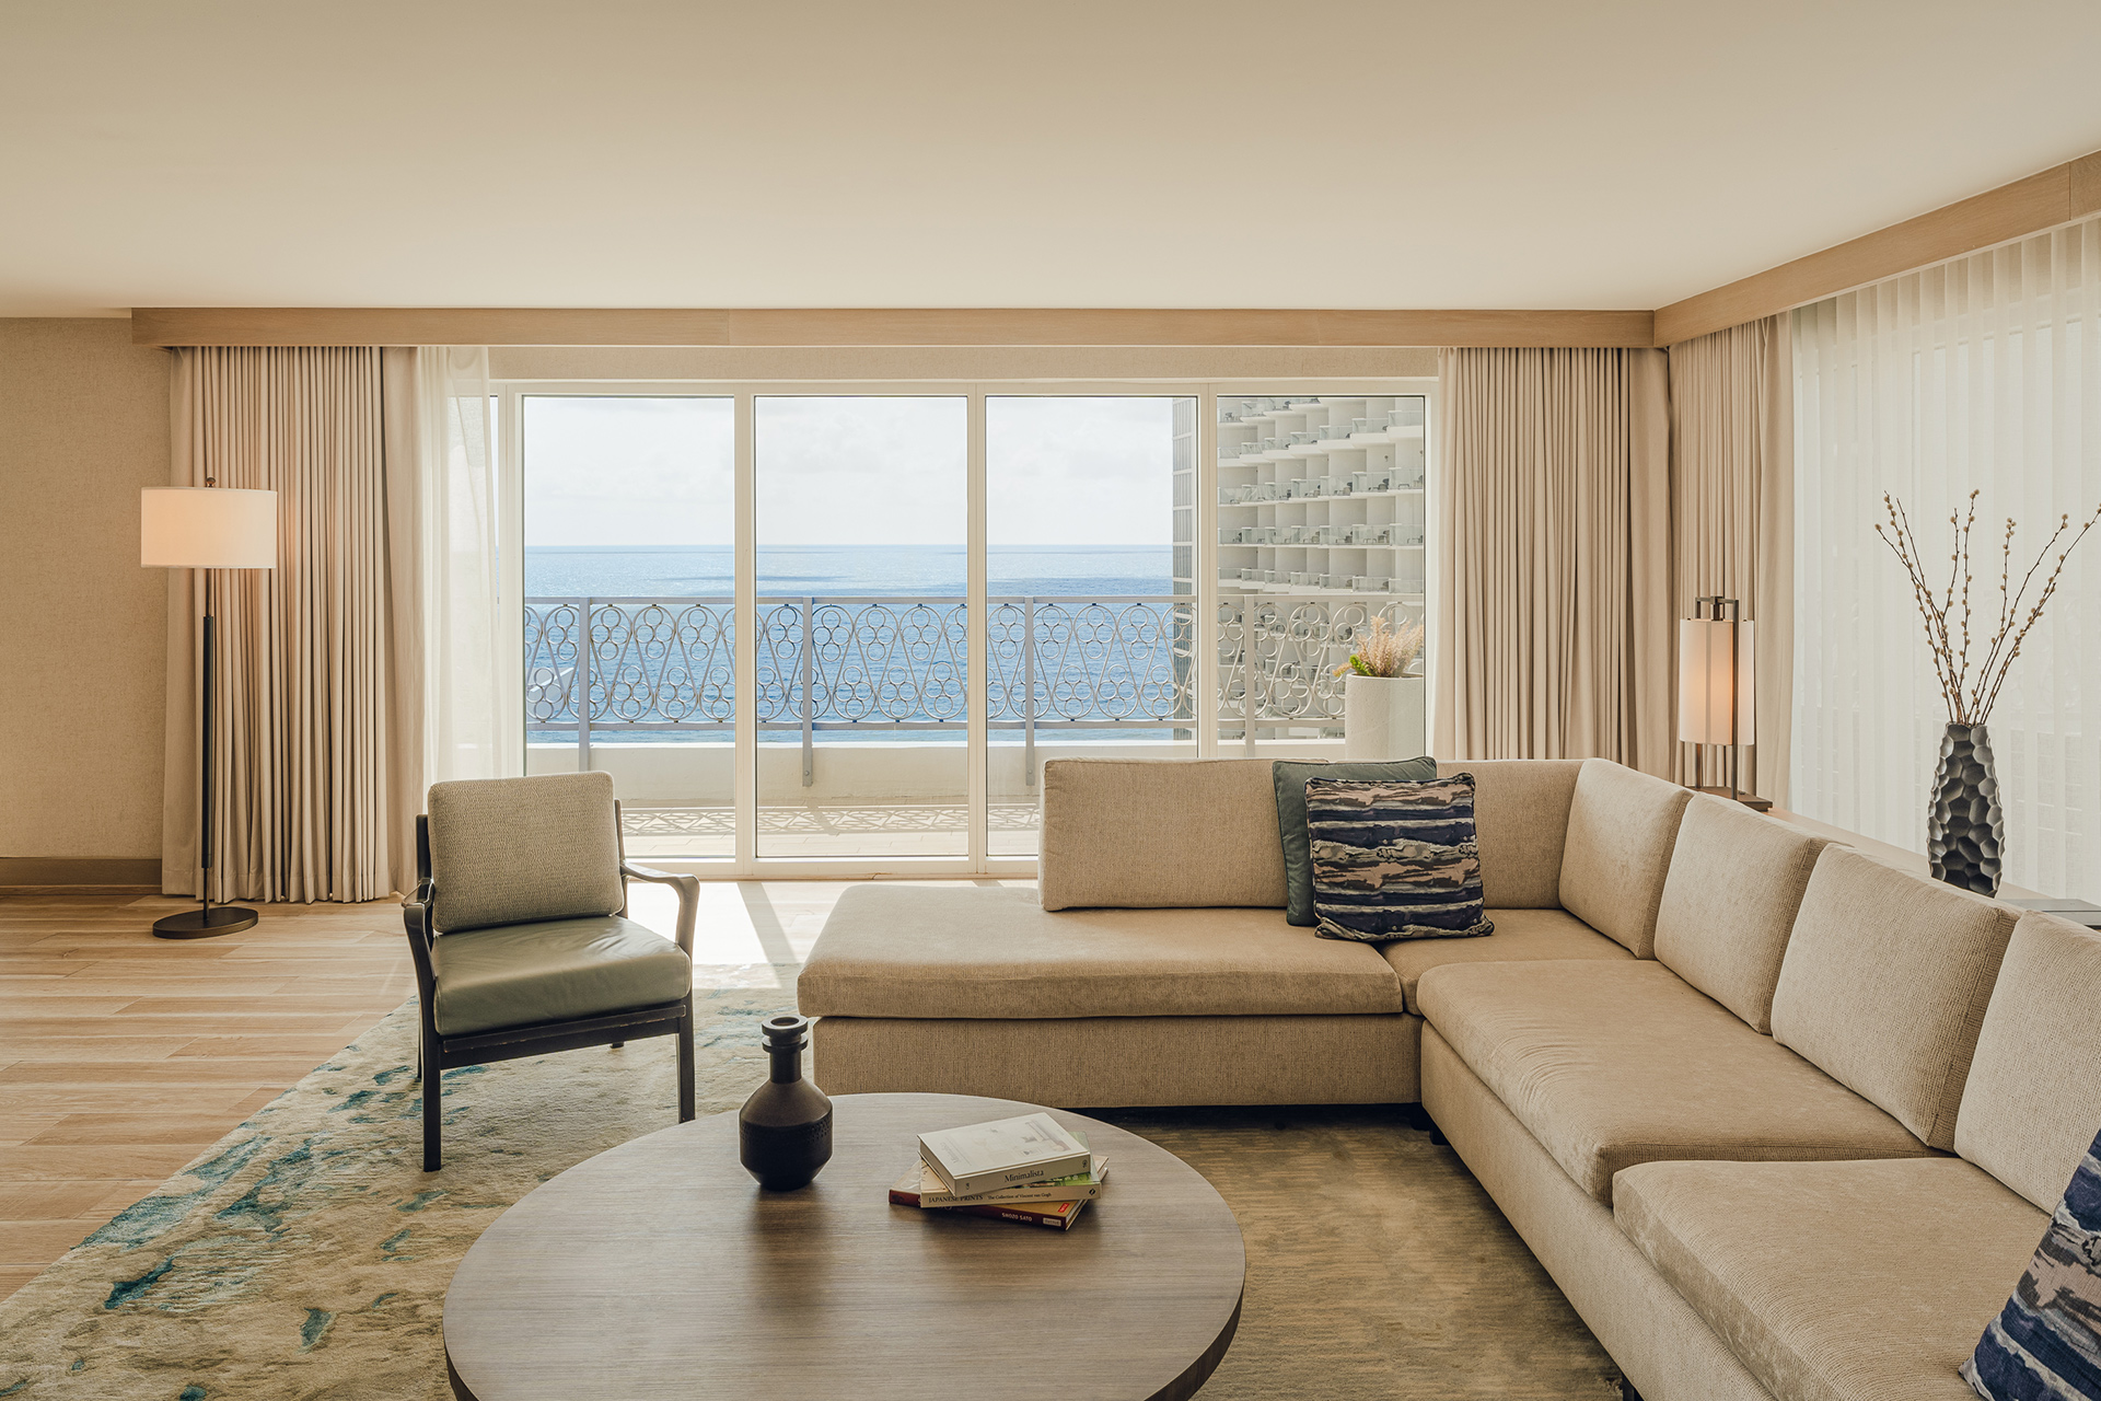
[[[1433,407],[506,384],[527,771],[613,773],[643,859],[1025,876],[1050,758],[1340,758],[1336,668],[1433,613]]]

